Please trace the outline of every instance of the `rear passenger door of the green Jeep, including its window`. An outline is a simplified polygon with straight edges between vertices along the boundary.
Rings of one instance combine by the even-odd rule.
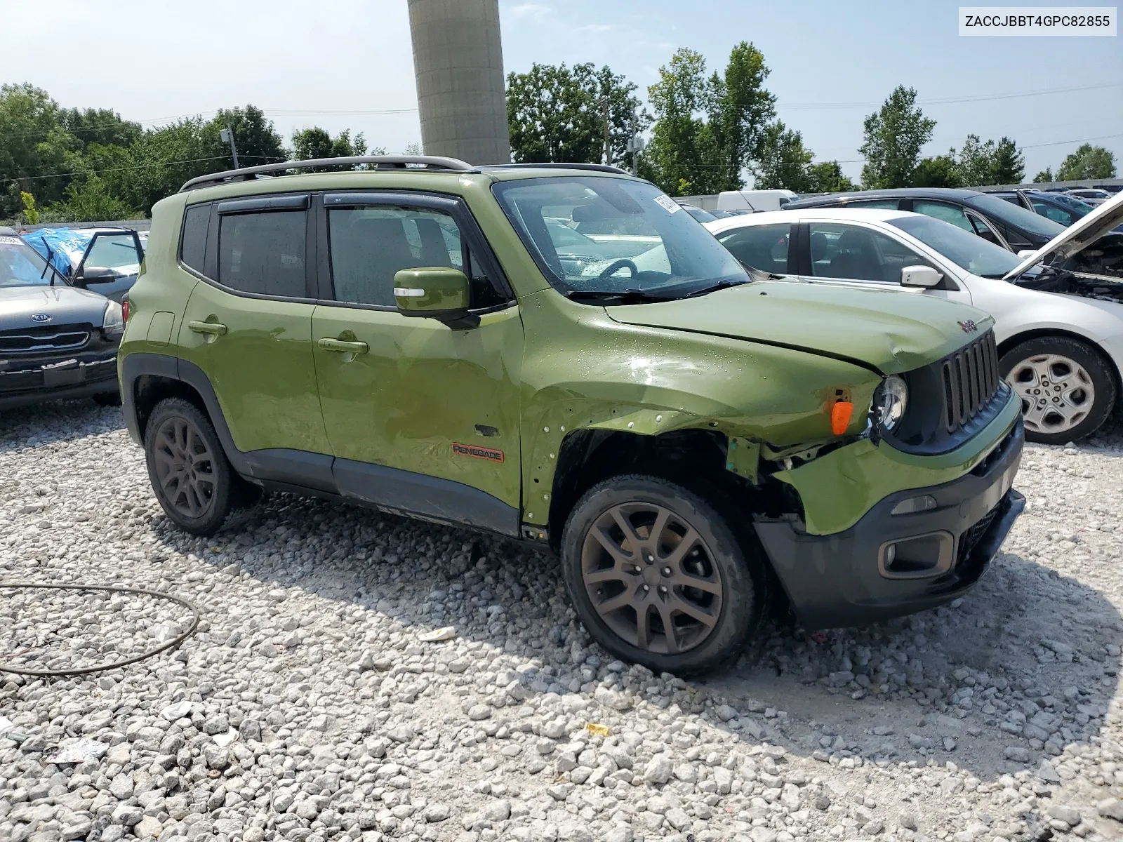
[[[303,193],[213,202],[201,272],[188,263],[198,263],[188,255],[194,235],[184,235],[180,265],[202,283],[183,313],[180,368],[182,375],[183,363],[194,365],[207,378],[238,450],[258,451],[258,463],[309,461],[305,455],[319,454],[323,458],[311,464],[328,472],[312,360],[309,199]]]

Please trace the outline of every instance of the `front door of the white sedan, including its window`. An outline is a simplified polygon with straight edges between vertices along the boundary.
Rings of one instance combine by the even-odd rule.
[[[804,250],[801,275],[809,281],[841,283],[865,289],[897,289],[933,298],[970,303],[970,293],[947,277],[947,268],[917,253],[896,237],[859,222],[811,219],[800,237]],[[941,286],[902,287],[905,266],[931,266],[944,274]]]

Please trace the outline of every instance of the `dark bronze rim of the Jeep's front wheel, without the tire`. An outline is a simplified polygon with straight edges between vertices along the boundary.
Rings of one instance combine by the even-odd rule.
[[[582,578],[601,620],[639,649],[677,655],[705,641],[723,584],[696,529],[655,503],[605,511],[585,536]]]

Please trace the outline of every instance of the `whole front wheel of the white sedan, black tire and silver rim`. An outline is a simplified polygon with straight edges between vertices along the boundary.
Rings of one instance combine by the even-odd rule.
[[[998,372],[1022,399],[1030,441],[1083,439],[1115,408],[1115,373],[1094,346],[1076,339],[1028,339],[1002,355]]]

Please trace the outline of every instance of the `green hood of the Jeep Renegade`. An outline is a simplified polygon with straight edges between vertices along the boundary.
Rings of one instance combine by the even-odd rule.
[[[756,281],[696,299],[605,310],[626,324],[796,348],[882,374],[933,363],[994,324],[980,310],[942,299],[809,281]]]

